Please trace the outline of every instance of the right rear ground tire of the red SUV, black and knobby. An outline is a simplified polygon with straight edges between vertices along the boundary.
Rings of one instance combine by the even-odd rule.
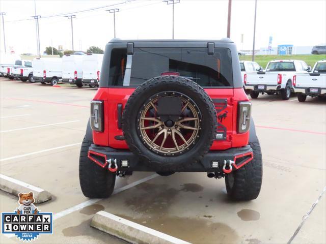
[[[260,192],[263,175],[260,144],[258,140],[249,144],[253,148],[254,159],[225,176],[226,190],[232,200],[253,200],[258,197]]]

